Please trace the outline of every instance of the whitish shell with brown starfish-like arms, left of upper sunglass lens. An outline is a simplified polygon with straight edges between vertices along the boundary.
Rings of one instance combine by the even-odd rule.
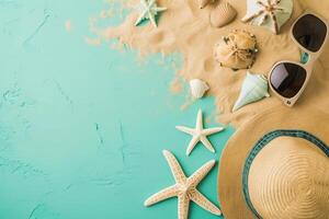
[[[241,21],[279,34],[280,28],[291,19],[293,8],[293,0],[247,0],[247,12]]]

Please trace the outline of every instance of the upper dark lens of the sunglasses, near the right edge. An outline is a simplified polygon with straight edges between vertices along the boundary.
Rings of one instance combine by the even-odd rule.
[[[293,35],[297,42],[310,51],[318,51],[326,38],[327,26],[315,15],[302,16],[293,28]]]

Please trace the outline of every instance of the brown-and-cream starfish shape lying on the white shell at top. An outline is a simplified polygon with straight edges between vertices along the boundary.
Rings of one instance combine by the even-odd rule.
[[[271,18],[273,23],[273,32],[279,34],[279,24],[275,15],[276,11],[283,12],[284,9],[279,8],[277,5],[281,3],[281,0],[266,0],[263,2],[262,0],[257,1],[257,4],[260,7],[259,10],[247,18],[242,19],[242,22],[250,22],[251,20],[261,16],[259,25],[263,24],[269,18]]]

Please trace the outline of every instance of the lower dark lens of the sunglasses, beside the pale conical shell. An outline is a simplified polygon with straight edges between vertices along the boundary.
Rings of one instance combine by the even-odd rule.
[[[294,97],[303,88],[306,70],[295,64],[280,64],[272,71],[270,82],[274,90],[286,99]]]

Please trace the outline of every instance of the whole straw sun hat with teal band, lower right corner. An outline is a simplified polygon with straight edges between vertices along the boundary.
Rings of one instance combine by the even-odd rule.
[[[329,219],[329,114],[279,107],[228,141],[218,186],[226,219]]]

